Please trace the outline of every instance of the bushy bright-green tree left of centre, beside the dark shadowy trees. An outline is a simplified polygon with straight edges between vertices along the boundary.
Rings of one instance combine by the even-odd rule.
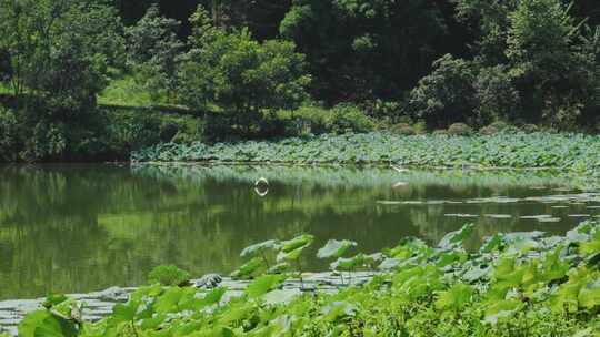
[[[192,21],[192,49],[181,71],[188,106],[216,104],[248,133],[264,112],[294,109],[307,99],[310,76],[292,42],[260,43],[247,29],[212,27],[201,8]]]

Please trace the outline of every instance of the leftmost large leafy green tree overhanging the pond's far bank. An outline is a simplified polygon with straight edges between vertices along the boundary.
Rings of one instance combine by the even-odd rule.
[[[119,35],[112,14],[87,1],[0,0],[22,159],[60,157],[101,133],[96,98],[119,44],[109,43]]]

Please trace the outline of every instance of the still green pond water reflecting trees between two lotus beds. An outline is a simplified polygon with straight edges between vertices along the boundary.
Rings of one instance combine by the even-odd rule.
[[[372,253],[472,222],[477,247],[496,232],[563,234],[600,215],[598,194],[541,172],[47,165],[0,177],[0,299],[139,285],[160,264],[229,273],[247,245],[300,233],[316,248],[348,238]]]

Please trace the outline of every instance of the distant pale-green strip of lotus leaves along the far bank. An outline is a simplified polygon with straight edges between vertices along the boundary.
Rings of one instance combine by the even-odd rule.
[[[324,134],[282,141],[207,145],[159,144],[132,154],[134,162],[396,163],[419,166],[600,168],[600,136],[499,133],[453,136],[389,133]]]

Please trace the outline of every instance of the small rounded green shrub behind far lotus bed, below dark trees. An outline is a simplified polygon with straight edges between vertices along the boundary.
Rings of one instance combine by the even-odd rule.
[[[362,111],[352,104],[339,104],[329,111],[324,119],[326,129],[332,133],[369,132],[374,123]]]

